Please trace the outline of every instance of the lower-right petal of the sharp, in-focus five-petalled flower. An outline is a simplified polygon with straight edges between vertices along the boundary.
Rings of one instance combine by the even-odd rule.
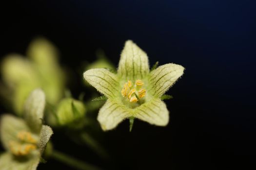
[[[160,99],[152,99],[134,109],[134,117],[158,126],[166,126],[169,122],[169,111]]]

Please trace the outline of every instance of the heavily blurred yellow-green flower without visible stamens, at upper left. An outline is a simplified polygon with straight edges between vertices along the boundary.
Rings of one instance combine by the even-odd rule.
[[[1,63],[3,87],[0,94],[22,114],[29,93],[42,88],[47,104],[54,105],[62,98],[65,88],[64,72],[58,63],[59,52],[45,38],[34,39],[27,49],[27,57],[9,54]]]

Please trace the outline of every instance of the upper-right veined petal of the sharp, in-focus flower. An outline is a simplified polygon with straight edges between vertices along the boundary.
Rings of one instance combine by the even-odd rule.
[[[165,64],[150,73],[149,92],[153,96],[162,96],[183,74],[184,68],[177,64]]]

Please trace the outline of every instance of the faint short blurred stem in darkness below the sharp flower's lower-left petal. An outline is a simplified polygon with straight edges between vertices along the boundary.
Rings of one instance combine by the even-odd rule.
[[[88,145],[91,149],[93,149],[98,155],[102,156],[105,159],[108,159],[109,156],[103,147],[100,146],[97,140],[95,140],[92,136],[90,136],[86,132],[81,133],[81,139],[83,142]]]

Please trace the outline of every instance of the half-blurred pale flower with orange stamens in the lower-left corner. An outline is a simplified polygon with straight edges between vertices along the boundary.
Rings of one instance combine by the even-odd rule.
[[[0,138],[5,153],[0,170],[36,170],[52,129],[42,125],[45,95],[34,90],[25,102],[22,118],[4,114],[0,119]]]

